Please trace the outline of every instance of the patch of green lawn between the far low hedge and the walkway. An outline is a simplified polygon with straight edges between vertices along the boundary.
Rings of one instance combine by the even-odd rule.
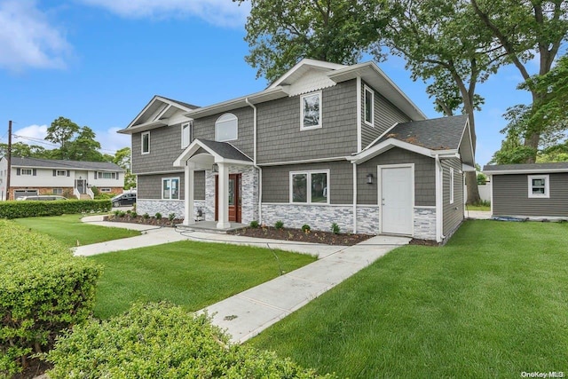
[[[82,217],[83,215],[28,217],[13,221],[36,232],[49,234],[70,248],[77,246],[77,241],[80,245],[90,245],[140,235],[138,231],[128,229],[85,224],[81,222]]]

